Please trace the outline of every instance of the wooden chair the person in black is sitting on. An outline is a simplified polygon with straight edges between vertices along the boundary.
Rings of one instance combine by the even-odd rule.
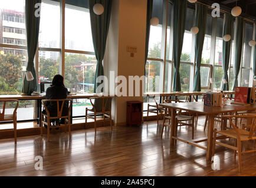
[[[57,103],[57,116],[51,117],[49,110],[47,109],[47,106],[45,103],[47,102],[55,102]],[[64,103],[68,103],[68,113],[67,115],[63,115],[63,107]],[[47,99],[47,100],[42,100],[42,104],[44,105],[44,109],[46,111],[45,113],[41,113],[41,136],[42,136],[42,129],[44,125],[47,125],[47,141],[50,141],[50,129],[56,129],[60,127],[65,127],[65,132],[69,132],[69,136],[71,139],[71,125],[70,125],[70,110],[72,106],[72,100],[71,99]],[[61,106],[60,106],[61,105]],[[54,119],[64,119],[64,125],[59,125],[59,126],[52,126],[51,125],[51,120]]]

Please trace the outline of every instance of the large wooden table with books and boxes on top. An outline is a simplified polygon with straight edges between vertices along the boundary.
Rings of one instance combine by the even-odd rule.
[[[174,145],[174,139],[181,142],[188,143],[196,147],[200,147],[207,151],[206,159],[211,160],[212,156],[212,140],[214,132],[214,117],[219,113],[228,113],[228,112],[238,112],[238,111],[248,111],[252,112],[256,110],[256,103],[251,105],[232,105],[230,102],[226,106],[205,106],[204,102],[185,102],[185,103],[160,103],[160,106],[164,108],[169,108],[171,112],[172,122],[175,122],[176,110],[186,110],[193,113],[202,113],[208,115],[208,136],[205,139],[194,139],[194,140],[184,140],[180,137],[175,137],[175,126],[172,126],[170,130],[170,146]],[[208,141],[207,147],[201,146],[199,142]]]

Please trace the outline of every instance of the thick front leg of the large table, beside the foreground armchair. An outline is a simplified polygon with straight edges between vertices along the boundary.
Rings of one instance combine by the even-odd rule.
[[[212,159],[212,140],[214,133],[214,116],[208,115],[208,140],[207,140],[207,153],[206,160],[211,161]]]

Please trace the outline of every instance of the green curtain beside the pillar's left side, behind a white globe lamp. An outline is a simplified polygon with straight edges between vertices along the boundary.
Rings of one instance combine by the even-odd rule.
[[[97,68],[96,68],[96,75],[94,80],[94,93],[99,92],[97,91],[97,86],[101,83],[97,83],[96,79],[98,76],[104,75],[104,69],[102,65],[102,61],[104,58],[105,48],[106,48],[106,41],[107,41],[107,33],[109,32],[109,23],[110,23],[110,16],[111,16],[111,4],[112,0],[90,0],[90,19],[91,19],[91,34],[93,36],[93,46],[94,52],[97,59]],[[104,6],[104,12],[101,15],[96,15],[93,12],[93,6],[95,4],[101,4]],[[103,92],[103,89],[101,89]]]

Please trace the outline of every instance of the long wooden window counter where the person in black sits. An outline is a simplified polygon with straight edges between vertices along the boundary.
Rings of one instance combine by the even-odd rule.
[[[103,95],[106,95],[106,93],[103,93]],[[88,99],[88,98],[94,98],[99,96],[97,93],[77,93],[76,95],[68,95],[68,99]],[[104,96],[102,96],[104,97]],[[31,96],[31,95],[0,95],[0,99],[2,100],[8,100],[8,99],[17,99],[17,100],[37,100],[37,123],[40,124],[41,122],[41,112],[42,112],[42,99],[45,99],[45,96]],[[73,117],[73,108],[71,108],[71,123],[72,123],[72,117]]]

